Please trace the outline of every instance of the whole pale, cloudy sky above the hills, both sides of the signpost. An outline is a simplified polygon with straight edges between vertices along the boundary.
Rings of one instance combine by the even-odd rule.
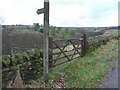
[[[50,25],[58,27],[118,26],[119,0],[49,0]],[[44,0],[0,0],[4,25],[43,24]]]

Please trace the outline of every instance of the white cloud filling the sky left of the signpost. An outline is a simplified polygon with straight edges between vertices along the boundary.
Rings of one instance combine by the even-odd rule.
[[[43,23],[43,15],[38,16],[36,11],[43,7],[39,0],[2,0],[0,2],[0,15],[4,17],[4,24],[32,24]],[[7,2],[7,3],[6,3]]]

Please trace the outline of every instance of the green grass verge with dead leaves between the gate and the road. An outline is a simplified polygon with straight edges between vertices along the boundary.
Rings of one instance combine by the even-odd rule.
[[[117,58],[118,41],[111,40],[83,58],[50,69],[46,85],[42,77],[28,87],[96,88],[116,65]]]

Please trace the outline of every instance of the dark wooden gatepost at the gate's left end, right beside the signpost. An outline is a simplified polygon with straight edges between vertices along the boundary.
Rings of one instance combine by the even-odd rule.
[[[53,66],[53,38],[49,37],[49,67]]]

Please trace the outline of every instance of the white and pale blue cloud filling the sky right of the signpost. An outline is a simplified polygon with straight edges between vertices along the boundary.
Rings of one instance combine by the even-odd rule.
[[[100,26],[99,22],[105,21],[105,25],[111,25],[106,22],[107,18],[117,17],[118,0],[81,0],[82,2],[72,4],[73,0],[60,1],[51,5],[51,23],[57,26]],[[59,3],[58,3],[59,2]],[[63,4],[63,5],[62,5]],[[114,14],[114,15],[113,15]],[[114,17],[113,17],[114,16]],[[111,18],[109,18],[111,20]],[[98,23],[98,24],[97,24]],[[112,25],[117,25],[115,22]]]

